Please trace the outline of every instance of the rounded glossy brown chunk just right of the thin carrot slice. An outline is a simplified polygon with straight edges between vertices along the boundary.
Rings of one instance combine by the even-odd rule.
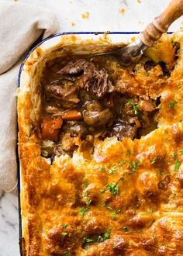
[[[99,102],[91,101],[83,113],[84,121],[88,126],[111,126],[113,122],[112,112],[103,108]]]

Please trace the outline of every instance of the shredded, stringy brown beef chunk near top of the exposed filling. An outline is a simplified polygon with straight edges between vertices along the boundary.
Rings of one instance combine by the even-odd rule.
[[[81,74],[81,72],[83,75],[78,85],[85,88],[87,92],[102,98],[105,94],[113,91],[112,81],[105,68],[100,69],[85,59],[69,62],[57,74]]]

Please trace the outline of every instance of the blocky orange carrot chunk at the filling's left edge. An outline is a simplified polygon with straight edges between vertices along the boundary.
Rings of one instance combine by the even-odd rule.
[[[51,119],[48,116],[44,116],[41,123],[41,134],[43,139],[57,140],[62,123],[63,120],[61,118]]]

